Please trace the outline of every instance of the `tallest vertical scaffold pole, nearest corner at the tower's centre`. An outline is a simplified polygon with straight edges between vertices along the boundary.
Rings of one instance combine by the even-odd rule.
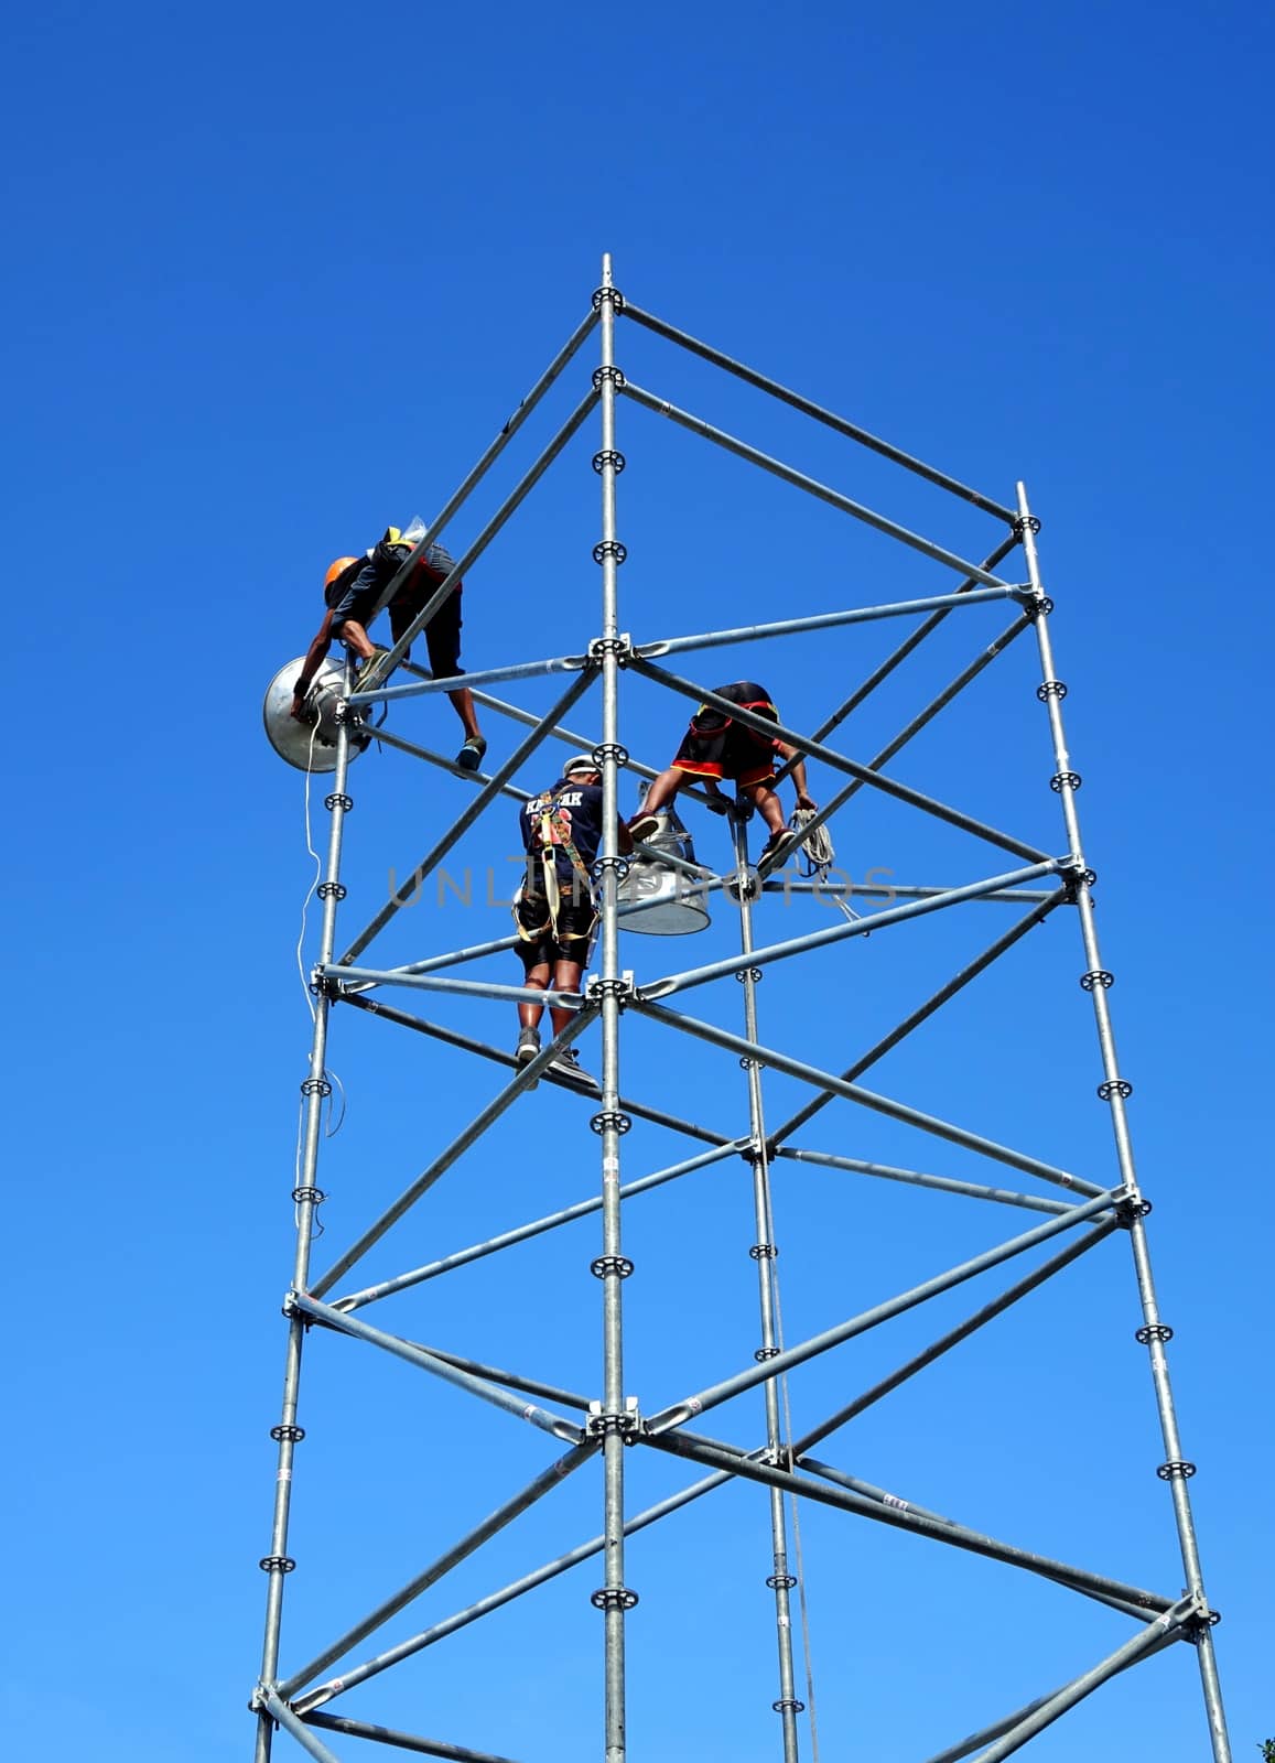
[[[601,1255],[593,1271],[601,1280],[603,1354],[603,1560],[601,1590],[593,1594],[605,1622],[607,1763],[624,1763],[624,1613],[637,1594],[624,1585],[624,1329],[623,1280],[631,1264],[621,1253],[619,1141],[628,1116],[619,1107],[619,587],[617,571],[624,547],[615,538],[615,478],[623,469],[615,451],[615,390],[623,379],[615,367],[615,310],[623,303],[612,282],[610,252],[601,259],[601,286],[594,293],[601,324],[601,361],[594,376],[601,393],[601,450],[594,467],[601,480],[601,541],[594,557],[601,564],[601,1111],[593,1127],[601,1135]]]

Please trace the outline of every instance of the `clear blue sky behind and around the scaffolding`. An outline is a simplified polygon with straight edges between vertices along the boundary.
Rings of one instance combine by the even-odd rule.
[[[51,661],[55,681],[18,744],[11,793],[11,926],[35,961],[7,1014],[18,1442],[4,1479],[21,1620],[0,1717],[16,1754],[249,1754],[309,1044],[295,943],[312,874],[303,781],[263,740],[261,695],[309,640],[328,561],[386,520],[437,511],[587,309],[605,249],[649,310],[991,495],[1028,481],[1183,1440],[1199,1463],[1204,1567],[1226,1618],[1236,1754],[1275,1731],[1270,63],[1270,18],[1234,4],[464,14],[321,0],[213,14],[53,0],[11,14],[5,481],[11,543],[35,587],[11,621],[11,670]],[[621,326],[619,360],[661,397],[958,552],[998,538],[986,517],[635,326]],[[578,398],[589,365],[510,448],[474,520]],[[635,640],[949,582],[631,404],[619,423]],[[469,666],[568,652],[596,633],[596,444],[573,443],[469,577]],[[460,520],[448,538],[469,532]],[[841,732],[843,751],[875,753],[1005,622],[996,608],[949,619]],[[813,726],[903,631],[682,663],[709,684],[757,672],[790,721]],[[1060,850],[1028,645],[892,770]],[[543,682],[508,691],[529,709],[552,695]],[[663,763],[681,702],[630,682],[624,716],[633,751]],[[487,723],[492,756],[508,753],[513,725]],[[594,700],[573,725],[596,726]],[[432,702],[400,707],[391,726],[444,749],[455,733]],[[464,802],[459,785],[388,751],[362,758],[351,785],[349,931],[384,897],[388,867],[402,874]],[[825,799],[829,774],[813,767],[811,788]],[[723,860],[718,822],[695,834]],[[1012,862],[866,793],[834,836],[857,880],[882,866],[899,882],[958,883]],[[483,820],[450,864],[473,869],[476,904],[427,894],[377,945],[386,963],[504,934],[481,878],[511,850],[511,815]],[[815,904],[767,911],[767,940],[831,922]],[[772,970],[764,1038],[848,1065],[982,948],[1003,911],[972,904]],[[314,924],[312,911],[310,954]],[[624,959],[651,978],[732,938],[716,908],[695,941],[630,936]],[[1113,1181],[1079,968],[1072,917],[1056,913],[866,1081]],[[483,971],[517,978],[510,957]],[[511,1042],[508,1007],[416,1003]],[[686,1007],[739,1026],[730,982]],[[741,1132],[741,1074],[674,1038],[631,1026],[626,1088]],[[584,1053],[596,1063],[596,1033]],[[496,1079],[474,1063],[337,1015],[332,1065],[349,1109],[323,1155],[319,1266],[490,1098]],[[767,1118],[801,1098],[776,1077]],[[802,1142],[1005,1174],[850,1104]],[[594,1153],[584,1109],[541,1086],[369,1257],[369,1278],[589,1195]],[[682,1155],[686,1141],[635,1128],[624,1169]],[[732,1162],[630,1208],[628,1377],[647,1410],[749,1361],[746,1183]],[[776,1176],[776,1213],[790,1340],[1035,1218],[797,1165]],[[407,1294],[381,1320],[593,1389],[596,1248],[585,1220]],[[797,1425],[1012,1276],[795,1375]],[[968,1525],[1173,1596],[1137,1320],[1120,1236],[824,1454]],[[310,1342],[289,1664],[547,1462],[538,1435],[421,1384],[367,1349]],[[753,1444],[760,1405],[718,1423]],[[635,1506],[691,1479],[645,1453],[630,1472]],[[593,1536],[600,1509],[585,1469],[386,1641]],[[818,1507],[802,1513],[802,1544],[829,1756],[929,1756],[1129,1633],[1042,1581]],[[767,1571],[765,1499],[751,1488],[631,1544],[633,1756],[776,1754]],[[591,1574],[351,1694],[349,1712],[522,1763],[596,1754]],[[1206,1756],[1194,1661],[1174,1648],[1107,1685],[1035,1754],[1077,1745],[1100,1763]],[[279,1754],[293,1754],[282,1738]]]

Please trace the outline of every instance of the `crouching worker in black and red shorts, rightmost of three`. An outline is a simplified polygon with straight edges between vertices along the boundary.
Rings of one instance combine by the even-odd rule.
[[[737,679],[730,686],[714,686],[718,698],[728,698],[742,710],[764,716],[769,723],[779,721],[779,712],[771,702],[765,686],[755,679]],[[797,748],[787,740],[776,740],[753,728],[744,728],[725,710],[702,703],[691,718],[690,728],[682,735],[682,744],[668,767],[660,772],[645,793],[638,813],[630,820],[630,836],[647,839],[656,830],[656,815],[674,800],[688,777],[704,783],[709,807],[718,815],[730,813],[730,800],[721,793],[718,783],[728,777],[739,795],[755,804],[769,829],[769,839],[760,850],[758,862],[772,857],[785,837],[790,836],[783,818],[783,806],[774,793],[774,755],[792,760],[792,781],[797,790],[797,807],[815,807],[806,793],[806,760]]]

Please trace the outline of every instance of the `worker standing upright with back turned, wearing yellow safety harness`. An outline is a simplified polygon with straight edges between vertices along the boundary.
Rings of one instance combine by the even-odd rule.
[[[603,818],[601,770],[593,755],[578,753],[568,760],[557,783],[524,802],[518,829],[527,873],[513,903],[513,922],[518,927],[524,984],[547,991],[552,978],[554,991],[577,991],[598,926],[591,869],[601,844]],[[621,853],[628,855],[633,839],[623,820],[615,822],[615,837]],[[518,1065],[527,1065],[540,1053],[543,1014],[540,1003],[518,1005]],[[554,1035],[561,1035],[575,1012],[550,1005],[548,1014]],[[575,1047],[559,1053],[547,1070],[582,1090],[598,1088],[596,1079],[580,1070]]]

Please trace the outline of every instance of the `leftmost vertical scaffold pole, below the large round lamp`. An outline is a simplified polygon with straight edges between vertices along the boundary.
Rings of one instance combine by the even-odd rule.
[[[353,684],[353,665],[351,665]],[[349,714],[349,712],[346,712]],[[337,728],[337,765],[333,769],[332,792],[326,797],[332,813],[328,830],[328,859],[319,883],[323,901],[323,927],[319,933],[319,961],[332,961],[337,947],[337,903],[346,892],[340,885],[340,836],[347,811],[354,806],[346,795],[346,776],[349,770],[349,726],[342,718]],[[310,1070],[302,1082],[305,1098],[305,1118],[302,1125],[302,1155],[298,1158],[296,1186],[293,1204],[296,1206],[296,1259],[293,1262],[293,1291],[305,1291],[310,1276],[310,1243],[314,1239],[314,1216],[323,1201],[316,1186],[319,1169],[319,1139],[323,1135],[323,1102],[332,1095],[326,1077],[328,1058],[328,1010],[330,1000],[323,994],[314,1007],[314,1033],[310,1037]],[[275,1514],[270,1530],[270,1553],[263,1557],[261,1567],[270,1574],[266,1590],[266,1633],[261,1647],[261,1685],[273,1689],[279,1677],[279,1631],[284,1615],[284,1578],[296,1566],[287,1553],[287,1516],[293,1495],[293,1456],[298,1442],[305,1437],[296,1425],[296,1403],[302,1380],[302,1342],[305,1320],[291,1315],[287,1320],[287,1352],[284,1356],[284,1400],[279,1425],[270,1437],[279,1444],[279,1463],[275,1469]],[[257,1742],[256,1763],[270,1763],[270,1744],[275,1722],[265,1707],[257,1703]]]

